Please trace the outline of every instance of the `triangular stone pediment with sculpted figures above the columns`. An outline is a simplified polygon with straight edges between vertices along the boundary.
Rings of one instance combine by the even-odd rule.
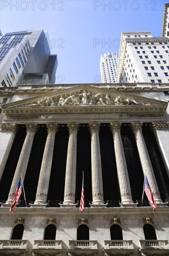
[[[1,107],[7,119],[31,118],[31,116],[41,118],[42,115],[65,115],[66,113],[158,112],[164,115],[167,102],[120,92],[116,89],[80,85],[44,92],[34,97],[1,105]]]

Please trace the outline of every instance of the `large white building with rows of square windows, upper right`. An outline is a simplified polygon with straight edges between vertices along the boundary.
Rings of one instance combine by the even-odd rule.
[[[168,83],[169,42],[150,32],[122,32],[117,81]]]

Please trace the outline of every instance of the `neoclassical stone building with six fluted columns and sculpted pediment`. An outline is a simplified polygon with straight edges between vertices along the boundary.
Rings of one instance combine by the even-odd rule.
[[[168,256],[168,90],[0,88],[0,255]],[[145,176],[155,211],[143,197]]]

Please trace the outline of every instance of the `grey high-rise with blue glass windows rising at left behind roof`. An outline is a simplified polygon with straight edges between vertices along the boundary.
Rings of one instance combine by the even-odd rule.
[[[0,36],[0,87],[22,83],[54,84],[57,55],[50,55],[50,52],[49,35],[43,29]]]

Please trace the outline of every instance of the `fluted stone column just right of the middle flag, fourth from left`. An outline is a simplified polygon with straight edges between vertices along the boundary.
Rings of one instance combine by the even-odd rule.
[[[100,123],[89,123],[91,132],[91,160],[92,160],[92,204],[104,204],[103,181],[101,170],[99,129]]]

